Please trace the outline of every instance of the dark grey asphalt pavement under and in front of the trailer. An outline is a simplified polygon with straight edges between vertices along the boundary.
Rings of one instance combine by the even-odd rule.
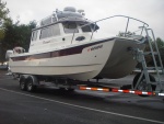
[[[39,88],[31,93],[0,71],[0,124],[164,124],[164,98]],[[131,83],[133,76],[103,80]]]

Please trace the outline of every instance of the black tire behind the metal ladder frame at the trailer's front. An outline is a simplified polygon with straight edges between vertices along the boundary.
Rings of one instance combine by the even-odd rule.
[[[136,84],[137,84],[137,82],[138,82],[140,76],[141,76],[141,74],[138,74],[138,75],[136,75],[136,77],[133,78],[133,82],[132,82],[132,88],[133,88],[133,89],[134,89],[134,87],[136,87]],[[155,82],[155,78],[154,78],[152,75],[149,75],[149,77],[150,77],[150,81],[151,81],[151,82]],[[148,91],[149,91],[149,92],[154,91],[156,87],[155,87],[154,84],[148,84],[144,80],[145,80],[145,77],[142,76],[142,77],[141,77],[141,81],[139,82],[139,84],[138,84],[138,87],[136,88],[136,90],[141,90],[141,91],[147,91],[147,92],[148,92]],[[149,95],[147,95],[147,94],[139,94],[139,95],[141,95],[141,97],[149,97]]]

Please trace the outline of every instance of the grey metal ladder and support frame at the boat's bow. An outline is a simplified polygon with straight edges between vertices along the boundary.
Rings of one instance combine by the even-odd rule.
[[[139,48],[134,49],[134,59],[137,59],[142,66],[141,66],[141,74],[138,76],[137,83],[132,86],[133,90],[143,90],[143,91],[154,91],[156,93],[164,93],[164,81],[162,81],[161,77],[164,76],[164,68],[159,50],[159,46],[153,33],[152,29],[147,29],[143,26],[143,30],[147,34],[145,44],[150,47],[150,52],[143,52]],[[150,38],[149,33],[152,35],[152,41],[154,42],[154,45],[152,45],[152,41]],[[151,56],[154,67],[148,67],[148,64],[145,61],[145,56]],[[154,70],[156,74],[156,79],[152,77],[149,72],[149,70]]]

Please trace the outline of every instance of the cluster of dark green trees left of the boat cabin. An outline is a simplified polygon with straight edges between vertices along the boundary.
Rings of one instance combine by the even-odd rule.
[[[13,23],[8,18],[9,9],[5,8],[7,2],[0,0],[0,61],[5,61],[5,52],[13,49],[15,46],[22,46],[26,50],[30,46],[31,31],[36,26],[35,21],[30,24]]]

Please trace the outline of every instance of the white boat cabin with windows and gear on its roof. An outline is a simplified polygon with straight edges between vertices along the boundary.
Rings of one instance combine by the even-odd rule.
[[[89,42],[92,32],[96,30],[98,26],[85,19],[82,10],[77,11],[71,7],[65,8],[63,11],[56,10],[32,31],[30,52],[56,49]]]

